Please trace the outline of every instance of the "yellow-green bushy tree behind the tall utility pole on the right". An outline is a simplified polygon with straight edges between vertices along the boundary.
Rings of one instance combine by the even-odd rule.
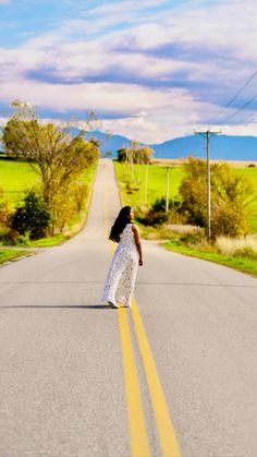
[[[248,230],[247,205],[252,197],[252,183],[234,175],[227,164],[212,164],[211,170],[211,226],[212,238],[218,234],[237,237]],[[206,163],[188,157],[180,185],[182,212],[187,221],[206,227]]]

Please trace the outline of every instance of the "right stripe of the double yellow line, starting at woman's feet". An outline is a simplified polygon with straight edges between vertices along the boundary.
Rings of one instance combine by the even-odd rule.
[[[170,419],[169,409],[135,299],[133,299],[132,316],[145,368],[163,456],[180,457],[181,453]]]

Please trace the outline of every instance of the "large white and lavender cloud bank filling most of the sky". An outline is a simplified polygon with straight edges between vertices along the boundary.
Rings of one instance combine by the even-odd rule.
[[[191,9],[150,16],[144,2],[106,2],[17,49],[0,48],[0,101],[29,99],[60,112],[120,112],[120,119],[102,124],[145,142],[192,133],[203,118],[220,110],[218,98],[225,104],[256,69],[254,2],[215,3],[207,10],[194,1]],[[126,28],[99,35],[125,21]],[[169,81],[184,88],[169,87]],[[241,125],[240,131],[249,129]]]

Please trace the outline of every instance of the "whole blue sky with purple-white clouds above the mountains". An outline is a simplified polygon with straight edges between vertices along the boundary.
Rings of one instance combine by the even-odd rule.
[[[0,0],[0,123],[20,99],[149,144],[256,136],[256,0]]]

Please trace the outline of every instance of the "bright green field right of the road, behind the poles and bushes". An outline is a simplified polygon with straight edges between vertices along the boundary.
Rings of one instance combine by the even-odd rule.
[[[145,189],[146,189],[146,165],[134,165],[134,179],[132,179],[131,169],[126,164],[114,161],[117,180],[121,190],[123,203],[125,205],[137,206],[145,203]],[[249,205],[250,208],[250,225],[252,231],[257,232],[257,168],[233,168],[236,173],[244,175],[253,182],[255,189],[255,201]],[[148,185],[146,203],[149,205],[157,199],[166,196],[166,173],[167,167],[159,165],[148,166]],[[139,185],[137,184],[139,176]],[[178,195],[179,187],[183,177],[183,167],[174,166],[170,169],[170,192],[169,196],[174,197]],[[127,183],[131,182],[127,189]]]

